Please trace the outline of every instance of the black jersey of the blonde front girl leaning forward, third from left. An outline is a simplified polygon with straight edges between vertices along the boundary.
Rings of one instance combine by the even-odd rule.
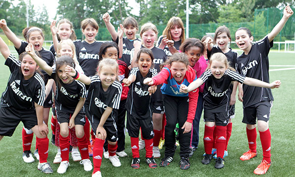
[[[113,109],[119,109],[119,103],[122,93],[122,85],[117,80],[109,86],[108,90],[105,92],[102,89],[101,81],[99,76],[91,76],[91,83],[88,90],[88,100],[86,103],[86,109],[89,110],[90,114],[88,115],[89,119],[97,118],[100,120],[102,114],[106,110],[107,107],[112,107]],[[105,126],[110,126],[114,124],[114,110],[108,117],[105,122]]]

